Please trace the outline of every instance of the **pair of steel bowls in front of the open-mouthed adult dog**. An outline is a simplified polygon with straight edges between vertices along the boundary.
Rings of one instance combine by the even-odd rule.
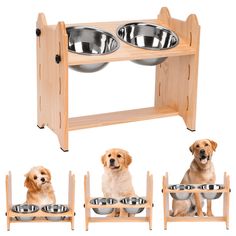
[[[203,198],[208,200],[213,200],[219,198],[222,193],[211,192],[211,190],[220,190],[223,189],[224,186],[221,184],[203,184],[199,186],[194,185],[184,185],[184,184],[175,184],[169,186],[170,190],[179,190],[178,192],[171,192],[170,195],[176,200],[187,200],[189,199],[193,193],[191,192],[181,192],[183,190],[192,190],[198,188],[200,190],[208,190],[205,192],[201,192]]]

